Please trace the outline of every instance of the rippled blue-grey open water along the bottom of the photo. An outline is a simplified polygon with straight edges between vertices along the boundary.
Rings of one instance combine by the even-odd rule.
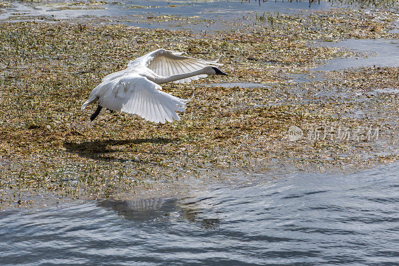
[[[398,265],[399,164],[0,212],[2,265]]]

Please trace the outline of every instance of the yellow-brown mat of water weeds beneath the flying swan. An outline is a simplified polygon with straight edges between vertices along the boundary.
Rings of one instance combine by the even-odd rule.
[[[214,33],[97,21],[0,23],[0,206],[183,193],[212,182],[256,182],[283,172],[354,171],[397,159],[399,69],[309,74],[356,51],[313,40],[397,38],[394,11],[337,8],[253,15]],[[154,19],[154,18],[149,18]],[[182,121],[156,125],[80,111],[105,75],[165,48],[224,63],[224,77],[164,90],[193,92]],[[217,83],[260,83],[220,87]],[[291,126],[296,133],[289,134]],[[300,131],[299,131],[299,130]],[[259,181],[259,180],[258,180]]]

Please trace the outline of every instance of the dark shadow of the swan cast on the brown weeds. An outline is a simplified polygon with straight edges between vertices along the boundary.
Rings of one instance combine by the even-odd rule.
[[[179,140],[180,139],[178,138],[155,137],[155,138],[135,138],[135,139],[126,139],[126,140],[115,140],[115,139],[90,140],[80,143],[65,141],[63,146],[68,152],[75,153],[78,154],[80,157],[85,157],[89,159],[103,160],[103,161],[119,161],[119,162],[126,162],[126,161],[140,162],[132,158],[117,158],[115,156],[112,156],[111,155],[112,153],[120,151],[113,147],[126,146],[131,144],[141,144],[141,143],[165,144],[165,143],[176,142]],[[139,151],[139,152],[168,155],[165,152],[150,152],[148,150]]]

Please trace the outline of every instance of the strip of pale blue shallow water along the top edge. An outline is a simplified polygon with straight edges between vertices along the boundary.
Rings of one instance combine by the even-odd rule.
[[[314,11],[332,8],[331,2],[322,1],[309,6],[308,1],[258,1],[241,0],[120,0],[120,1],[73,1],[50,0],[42,2],[10,1],[12,4],[0,10],[0,20],[90,20],[94,17],[132,26],[147,28],[185,28],[189,30],[219,30],[225,21],[233,22],[254,18],[264,12],[294,13],[300,10]],[[196,18],[196,23],[169,19],[163,23],[148,17],[174,16]],[[215,23],[212,23],[213,22]],[[227,24],[228,25],[228,24]]]

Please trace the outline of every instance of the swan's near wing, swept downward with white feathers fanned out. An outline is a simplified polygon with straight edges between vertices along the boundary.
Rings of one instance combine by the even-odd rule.
[[[188,100],[160,91],[161,86],[137,75],[104,82],[97,92],[102,107],[114,111],[136,114],[154,123],[165,124],[173,119],[180,121],[176,113],[184,112]]]

